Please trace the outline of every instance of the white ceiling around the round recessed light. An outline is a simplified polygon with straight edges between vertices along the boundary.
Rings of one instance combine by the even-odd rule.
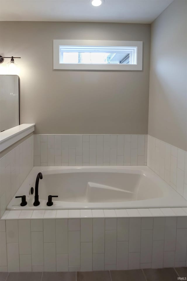
[[[152,23],[173,0],[0,0],[3,21]]]

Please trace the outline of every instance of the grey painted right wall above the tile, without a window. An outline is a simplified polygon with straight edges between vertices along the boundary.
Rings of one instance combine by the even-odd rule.
[[[151,25],[148,134],[187,151],[187,1]]]

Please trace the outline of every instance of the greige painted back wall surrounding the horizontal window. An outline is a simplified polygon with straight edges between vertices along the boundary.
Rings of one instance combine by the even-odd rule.
[[[36,134],[147,134],[150,25],[1,22],[0,33],[1,55],[21,56],[20,121]],[[143,71],[54,71],[53,39],[143,41]]]

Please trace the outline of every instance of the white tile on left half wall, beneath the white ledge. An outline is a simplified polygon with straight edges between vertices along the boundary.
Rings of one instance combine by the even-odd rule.
[[[30,136],[0,159],[0,217],[33,168],[33,142],[37,148],[39,138]]]

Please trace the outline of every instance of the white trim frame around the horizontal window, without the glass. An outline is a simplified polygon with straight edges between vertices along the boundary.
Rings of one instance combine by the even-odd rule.
[[[137,64],[60,64],[60,46],[137,47]],[[142,41],[53,40],[53,69],[62,70],[142,70]]]

